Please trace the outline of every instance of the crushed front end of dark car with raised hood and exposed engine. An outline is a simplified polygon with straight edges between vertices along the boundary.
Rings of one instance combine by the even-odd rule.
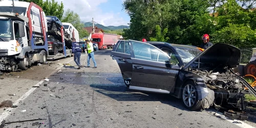
[[[241,51],[231,45],[215,44],[206,49],[183,67],[183,70],[197,74],[197,86],[206,88],[202,96],[202,107],[221,106],[244,110],[245,87],[256,96],[241,76],[233,72],[240,63]],[[200,84],[199,84],[200,83]],[[202,89],[201,89],[202,90]]]

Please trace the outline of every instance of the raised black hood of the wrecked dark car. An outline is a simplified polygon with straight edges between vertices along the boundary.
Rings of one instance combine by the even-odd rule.
[[[240,63],[241,50],[227,44],[217,43],[208,49],[204,50],[190,62],[188,62],[182,69],[188,68],[193,62],[200,61],[200,63],[212,63],[215,66],[235,67]]]

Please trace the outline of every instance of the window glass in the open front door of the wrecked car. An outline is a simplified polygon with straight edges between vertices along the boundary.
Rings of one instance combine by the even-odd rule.
[[[169,59],[166,54],[151,45],[135,41],[132,41],[132,45],[135,58],[159,62],[165,62]]]

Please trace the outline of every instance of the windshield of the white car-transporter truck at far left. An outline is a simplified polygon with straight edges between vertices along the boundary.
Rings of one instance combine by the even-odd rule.
[[[10,38],[12,37],[11,20],[0,19],[0,37]]]

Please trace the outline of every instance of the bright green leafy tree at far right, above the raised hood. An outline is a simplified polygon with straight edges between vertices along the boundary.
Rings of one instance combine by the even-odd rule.
[[[243,5],[242,5],[243,6]],[[235,0],[229,0],[217,9],[216,31],[212,34],[212,42],[222,42],[237,47],[255,47],[256,13],[242,8]]]

